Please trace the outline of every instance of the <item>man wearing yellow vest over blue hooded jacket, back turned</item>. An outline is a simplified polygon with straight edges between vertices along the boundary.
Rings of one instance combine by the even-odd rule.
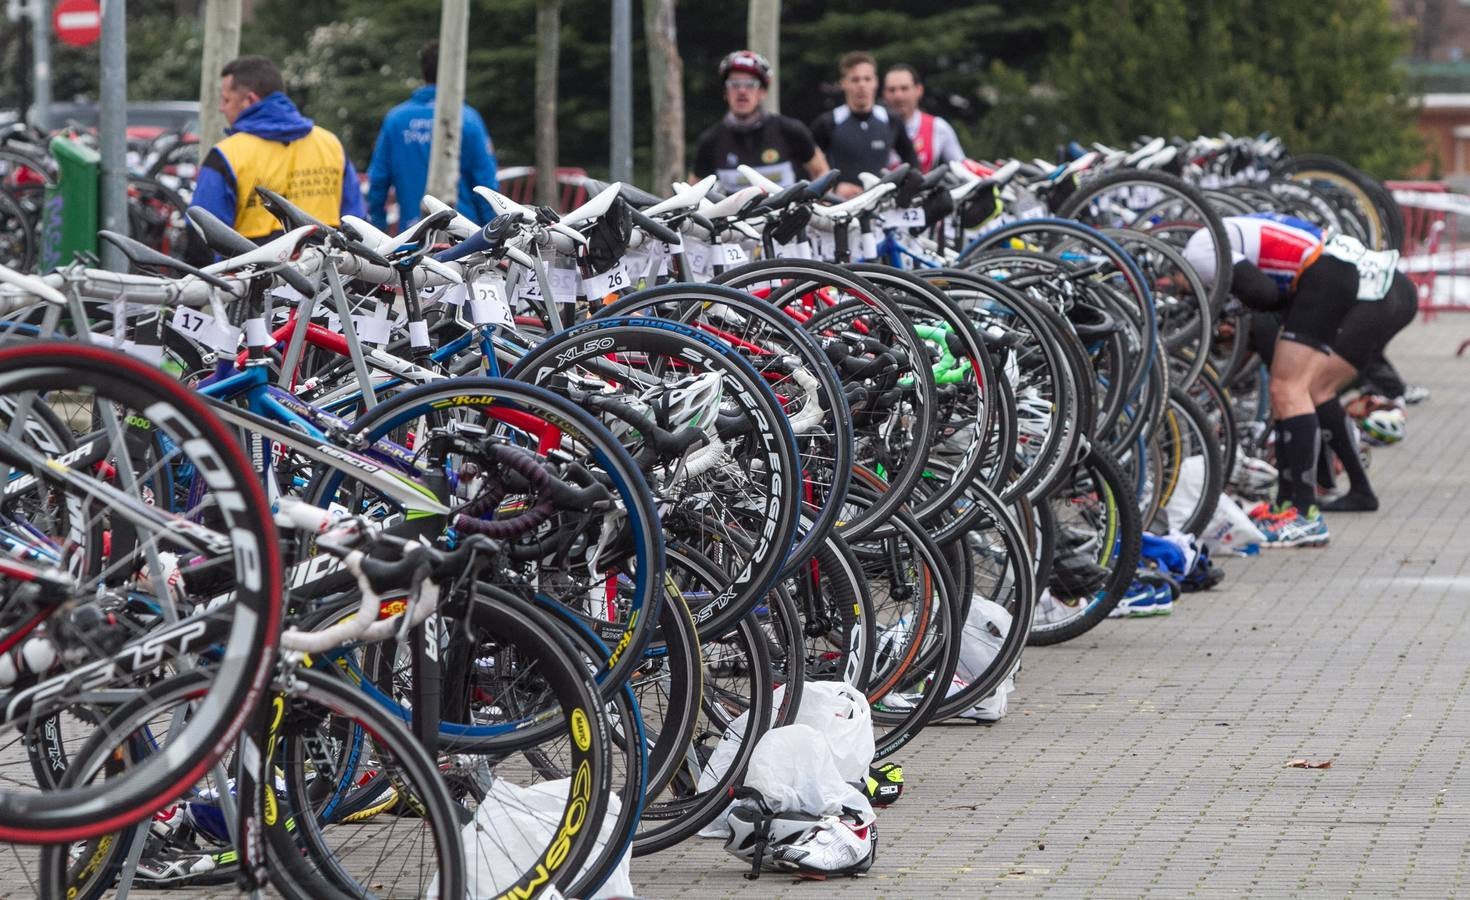
[[[368,215],[343,143],[291,103],[275,63],[241,56],[220,71],[220,79],[219,112],[229,122],[229,137],[204,157],[194,206],[256,243],[281,234],[256,187],[270,188],[328,225],[345,213]]]

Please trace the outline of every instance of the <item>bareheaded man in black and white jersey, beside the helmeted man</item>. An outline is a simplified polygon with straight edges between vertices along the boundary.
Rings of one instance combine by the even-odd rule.
[[[839,68],[847,103],[817,116],[811,122],[811,137],[842,174],[835,190],[845,199],[863,193],[858,172],[876,175],[888,168],[889,153],[913,166],[919,165],[919,156],[904,124],[878,106],[878,62],[867,53],[854,51],[842,57]]]

